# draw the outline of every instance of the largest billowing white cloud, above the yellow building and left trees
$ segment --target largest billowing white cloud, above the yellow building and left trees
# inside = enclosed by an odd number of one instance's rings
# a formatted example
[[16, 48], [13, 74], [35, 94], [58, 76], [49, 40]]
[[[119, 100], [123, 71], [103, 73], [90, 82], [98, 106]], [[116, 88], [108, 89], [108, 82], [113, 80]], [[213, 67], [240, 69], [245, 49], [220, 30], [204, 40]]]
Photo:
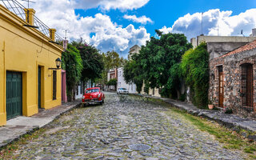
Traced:
[[[96, 0], [95, 2], [103, 1]], [[42, 0], [38, 1], [33, 7], [36, 10], [36, 16], [47, 26], [56, 28], [58, 34], [62, 37], [64, 37], [65, 30], [67, 30], [68, 38], [83, 38], [90, 45], [103, 52], [115, 50], [126, 57], [131, 46], [135, 44], [144, 45], [146, 40], [150, 38], [150, 34], [147, 33], [144, 27], [135, 29], [131, 24], [125, 27], [120, 26], [112, 22], [110, 16], [106, 14], [81, 17], [74, 13], [74, 6], [72, 0]]]

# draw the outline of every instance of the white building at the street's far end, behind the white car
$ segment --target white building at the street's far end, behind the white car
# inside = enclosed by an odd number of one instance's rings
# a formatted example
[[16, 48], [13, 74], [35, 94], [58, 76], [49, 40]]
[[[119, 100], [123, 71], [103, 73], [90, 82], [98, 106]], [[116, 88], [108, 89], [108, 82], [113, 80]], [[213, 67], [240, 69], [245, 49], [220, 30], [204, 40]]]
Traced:
[[118, 68], [118, 88], [126, 88], [129, 93], [137, 94], [136, 85], [134, 83], [127, 84], [123, 77], [123, 68]]

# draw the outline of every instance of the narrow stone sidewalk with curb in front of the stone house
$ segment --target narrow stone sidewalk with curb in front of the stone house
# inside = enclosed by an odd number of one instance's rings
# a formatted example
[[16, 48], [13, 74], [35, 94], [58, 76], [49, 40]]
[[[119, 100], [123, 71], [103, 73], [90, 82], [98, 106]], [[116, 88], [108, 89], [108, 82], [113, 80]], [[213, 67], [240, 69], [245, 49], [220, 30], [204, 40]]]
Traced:
[[242, 132], [242, 136], [248, 138], [250, 140], [256, 141], [256, 121], [251, 118], [241, 118], [235, 114], [224, 114], [219, 110], [202, 110], [198, 109], [192, 103], [188, 102], [180, 102], [170, 98], [158, 98], [149, 95], [136, 94], [146, 98], [155, 98], [162, 99], [162, 101], [169, 103], [172, 106], [177, 107], [180, 110], [186, 110], [187, 113], [193, 114], [196, 116], [202, 116], [204, 118], [208, 118], [231, 130], [242, 131], [248, 130], [252, 134], [246, 134], [246, 132]]

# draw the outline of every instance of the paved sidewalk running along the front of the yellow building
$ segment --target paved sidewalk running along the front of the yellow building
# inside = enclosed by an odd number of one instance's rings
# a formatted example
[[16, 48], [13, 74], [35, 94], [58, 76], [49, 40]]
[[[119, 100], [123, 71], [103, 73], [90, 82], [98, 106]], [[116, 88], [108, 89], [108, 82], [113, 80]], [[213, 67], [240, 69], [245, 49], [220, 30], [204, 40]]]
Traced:
[[29, 134], [46, 126], [60, 115], [80, 105], [81, 99], [75, 102], [67, 102], [62, 106], [50, 110], [43, 110], [32, 117], [20, 116], [7, 121], [6, 126], [0, 127], [0, 150], [3, 146], [17, 140], [24, 134]]

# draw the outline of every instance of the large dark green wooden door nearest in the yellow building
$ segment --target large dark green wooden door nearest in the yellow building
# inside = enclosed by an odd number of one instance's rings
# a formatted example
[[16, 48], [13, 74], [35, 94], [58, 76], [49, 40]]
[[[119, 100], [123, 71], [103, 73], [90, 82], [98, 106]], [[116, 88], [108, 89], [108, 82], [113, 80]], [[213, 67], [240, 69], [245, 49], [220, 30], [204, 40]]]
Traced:
[[22, 115], [22, 73], [6, 74], [6, 114], [7, 119]]

